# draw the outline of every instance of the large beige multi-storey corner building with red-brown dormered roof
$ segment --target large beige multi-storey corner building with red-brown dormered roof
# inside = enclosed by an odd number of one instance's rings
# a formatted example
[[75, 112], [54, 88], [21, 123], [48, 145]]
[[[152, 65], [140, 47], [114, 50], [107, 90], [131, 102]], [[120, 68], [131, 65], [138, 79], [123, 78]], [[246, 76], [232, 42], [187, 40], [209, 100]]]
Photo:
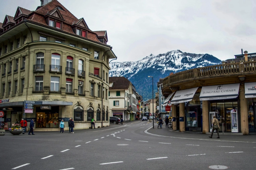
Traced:
[[[35, 11], [17, 8], [0, 23], [0, 110], [8, 126], [24, 117], [36, 130], [109, 126], [109, 61], [116, 59], [106, 31], [92, 31], [57, 0]], [[35, 101], [26, 109], [24, 101]], [[43, 120], [37, 128], [38, 120]], [[57, 129], [55, 129], [57, 130]]]

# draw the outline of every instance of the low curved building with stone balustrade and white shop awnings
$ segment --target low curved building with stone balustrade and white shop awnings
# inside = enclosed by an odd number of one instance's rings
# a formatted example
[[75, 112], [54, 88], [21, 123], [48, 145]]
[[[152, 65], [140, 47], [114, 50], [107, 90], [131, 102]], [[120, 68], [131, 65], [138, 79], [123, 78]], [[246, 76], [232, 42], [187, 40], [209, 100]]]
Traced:
[[256, 134], [256, 61], [247, 51], [220, 65], [194, 68], [163, 80], [172, 104], [173, 129], [210, 133], [213, 116], [220, 133]]

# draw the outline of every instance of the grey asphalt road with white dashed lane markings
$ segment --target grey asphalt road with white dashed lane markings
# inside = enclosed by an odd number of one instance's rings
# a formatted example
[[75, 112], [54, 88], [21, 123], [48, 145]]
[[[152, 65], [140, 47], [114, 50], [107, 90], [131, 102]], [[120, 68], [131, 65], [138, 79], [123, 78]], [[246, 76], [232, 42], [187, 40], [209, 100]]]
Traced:
[[[212, 165], [247, 170], [256, 167], [255, 143], [146, 134], [151, 127], [148, 121], [136, 121], [111, 124], [108, 130], [100, 128], [91, 133], [74, 130], [74, 134], [0, 136], [0, 170], [205, 170]], [[157, 130], [161, 132], [164, 128]]]

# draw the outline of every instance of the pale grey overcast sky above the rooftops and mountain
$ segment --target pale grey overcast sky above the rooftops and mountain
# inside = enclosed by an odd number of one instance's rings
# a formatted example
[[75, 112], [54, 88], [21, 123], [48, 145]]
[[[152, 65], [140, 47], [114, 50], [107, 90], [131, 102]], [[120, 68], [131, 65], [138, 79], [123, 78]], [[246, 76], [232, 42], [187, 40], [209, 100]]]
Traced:
[[[0, 22], [17, 7], [35, 10], [40, 0], [1, 0]], [[172, 50], [226, 60], [256, 52], [254, 0], [59, 0], [92, 31], [107, 30], [117, 62], [138, 61]]]

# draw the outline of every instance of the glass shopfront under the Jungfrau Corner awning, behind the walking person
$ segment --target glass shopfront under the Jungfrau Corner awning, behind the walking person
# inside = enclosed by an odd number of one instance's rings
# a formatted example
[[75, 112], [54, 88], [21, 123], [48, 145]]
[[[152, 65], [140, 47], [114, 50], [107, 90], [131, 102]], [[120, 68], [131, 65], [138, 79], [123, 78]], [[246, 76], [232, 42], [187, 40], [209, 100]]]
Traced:
[[[220, 129], [222, 132], [232, 132], [232, 127], [238, 129], [239, 118], [231, 113], [238, 113], [238, 102], [237, 101], [222, 101], [222, 102], [210, 102], [210, 112], [215, 113], [216, 118], [219, 120]], [[233, 117], [232, 117], [233, 116]], [[212, 122], [211, 117], [209, 118]], [[233, 123], [233, 124], [232, 124]], [[211, 123], [210, 123], [211, 128]]]

